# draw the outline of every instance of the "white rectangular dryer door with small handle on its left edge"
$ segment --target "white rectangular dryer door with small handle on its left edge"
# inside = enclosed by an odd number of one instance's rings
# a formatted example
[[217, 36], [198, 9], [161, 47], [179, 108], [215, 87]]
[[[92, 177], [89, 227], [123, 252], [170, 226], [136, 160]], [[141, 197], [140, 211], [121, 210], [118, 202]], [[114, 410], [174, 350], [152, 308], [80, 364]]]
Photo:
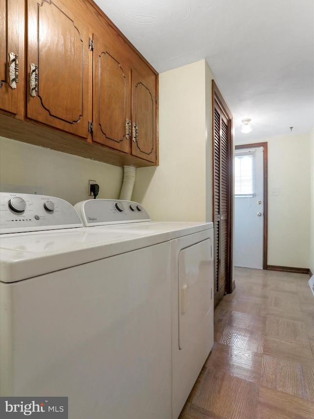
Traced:
[[179, 253], [179, 348], [193, 338], [211, 306], [210, 239]]

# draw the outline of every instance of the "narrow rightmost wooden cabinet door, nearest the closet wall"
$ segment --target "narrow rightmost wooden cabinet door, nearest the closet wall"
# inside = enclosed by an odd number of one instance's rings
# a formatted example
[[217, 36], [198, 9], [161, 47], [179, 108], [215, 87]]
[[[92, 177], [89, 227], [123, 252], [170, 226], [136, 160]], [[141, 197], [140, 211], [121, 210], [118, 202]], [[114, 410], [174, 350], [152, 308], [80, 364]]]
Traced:
[[132, 155], [156, 162], [156, 75], [132, 70]]

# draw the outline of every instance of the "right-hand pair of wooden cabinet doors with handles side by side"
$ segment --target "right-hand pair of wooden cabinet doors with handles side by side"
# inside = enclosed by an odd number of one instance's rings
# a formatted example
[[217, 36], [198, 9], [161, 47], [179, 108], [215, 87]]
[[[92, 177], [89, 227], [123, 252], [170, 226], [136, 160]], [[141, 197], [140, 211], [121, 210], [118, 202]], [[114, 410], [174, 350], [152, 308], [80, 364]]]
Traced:
[[157, 76], [140, 59], [130, 68], [130, 56], [94, 35], [93, 141], [156, 163]]

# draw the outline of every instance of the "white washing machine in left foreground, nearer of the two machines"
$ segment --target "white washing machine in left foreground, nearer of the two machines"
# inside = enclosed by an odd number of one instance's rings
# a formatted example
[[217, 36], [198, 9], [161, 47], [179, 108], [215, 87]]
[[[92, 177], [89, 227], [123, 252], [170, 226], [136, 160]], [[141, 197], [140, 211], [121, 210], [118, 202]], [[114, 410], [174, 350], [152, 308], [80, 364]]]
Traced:
[[169, 233], [85, 228], [66, 201], [6, 193], [0, 222], [1, 395], [169, 419]]

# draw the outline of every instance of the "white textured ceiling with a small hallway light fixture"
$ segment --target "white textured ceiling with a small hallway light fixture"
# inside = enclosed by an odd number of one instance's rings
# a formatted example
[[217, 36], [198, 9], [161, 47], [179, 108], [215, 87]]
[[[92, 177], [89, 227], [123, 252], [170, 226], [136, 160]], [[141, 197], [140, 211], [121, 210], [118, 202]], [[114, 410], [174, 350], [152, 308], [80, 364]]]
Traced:
[[[233, 113], [236, 141], [311, 131], [313, 0], [96, 3], [158, 73], [205, 58]], [[243, 118], [252, 119], [249, 134], [240, 133]]]

